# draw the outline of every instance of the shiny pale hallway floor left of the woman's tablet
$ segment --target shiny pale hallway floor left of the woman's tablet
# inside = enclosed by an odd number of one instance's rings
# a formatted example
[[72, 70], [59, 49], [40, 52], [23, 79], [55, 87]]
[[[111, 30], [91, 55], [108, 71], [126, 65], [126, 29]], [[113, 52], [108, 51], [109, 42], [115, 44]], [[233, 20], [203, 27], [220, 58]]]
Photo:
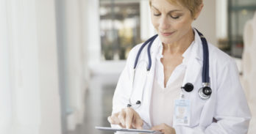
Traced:
[[96, 130], [95, 126], [110, 127], [107, 116], [111, 115], [112, 99], [115, 92], [117, 76], [95, 76], [90, 81], [90, 88], [85, 97], [85, 119], [76, 130], [68, 134], [113, 134]]

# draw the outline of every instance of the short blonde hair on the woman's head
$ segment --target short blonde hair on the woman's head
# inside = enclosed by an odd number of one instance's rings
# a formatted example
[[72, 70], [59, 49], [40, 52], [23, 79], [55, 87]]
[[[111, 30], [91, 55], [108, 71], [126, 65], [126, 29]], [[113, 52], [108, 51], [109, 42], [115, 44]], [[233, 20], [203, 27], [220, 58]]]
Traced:
[[[151, 1], [149, 0], [149, 5], [151, 7]], [[202, 4], [202, 0], [166, 0], [170, 2], [171, 4], [181, 4], [183, 7], [188, 8], [188, 10], [191, 11], [191, 15], [194, 18], [196, 15], [196, 12], [199, 11], [199, 7]]]

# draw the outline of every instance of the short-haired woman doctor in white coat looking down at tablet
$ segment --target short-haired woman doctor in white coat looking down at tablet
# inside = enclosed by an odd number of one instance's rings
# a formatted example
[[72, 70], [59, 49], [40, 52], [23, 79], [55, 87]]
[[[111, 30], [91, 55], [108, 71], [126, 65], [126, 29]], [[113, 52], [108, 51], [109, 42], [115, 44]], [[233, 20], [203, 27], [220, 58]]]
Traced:
[[149, 4], [158, 36], [139, 56], [142, 44], [130, 51], [108, 117], [112, 127], [164, 134], [246, 134], [251, 115], [235, 62], [214, 45], [205, 45], [203, 35], [191, 27], [202, 0]]

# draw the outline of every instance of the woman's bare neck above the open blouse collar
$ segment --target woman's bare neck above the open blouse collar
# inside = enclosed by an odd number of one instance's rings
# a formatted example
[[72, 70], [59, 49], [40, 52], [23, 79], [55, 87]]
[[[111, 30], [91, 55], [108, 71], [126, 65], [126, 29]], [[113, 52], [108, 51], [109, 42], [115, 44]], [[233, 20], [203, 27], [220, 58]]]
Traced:
[[188, 47], [191, 45], [191, 42], [194, 40], [194, 33], [193, 29], [188, 31], [187, 34], [182, 37], [181, 40], [178, 40], [177, 42], [174, 42], [172, 44], [164, 44], [163, 43], [163, 53], [169, 53], [169, 54], [183, 54]]

